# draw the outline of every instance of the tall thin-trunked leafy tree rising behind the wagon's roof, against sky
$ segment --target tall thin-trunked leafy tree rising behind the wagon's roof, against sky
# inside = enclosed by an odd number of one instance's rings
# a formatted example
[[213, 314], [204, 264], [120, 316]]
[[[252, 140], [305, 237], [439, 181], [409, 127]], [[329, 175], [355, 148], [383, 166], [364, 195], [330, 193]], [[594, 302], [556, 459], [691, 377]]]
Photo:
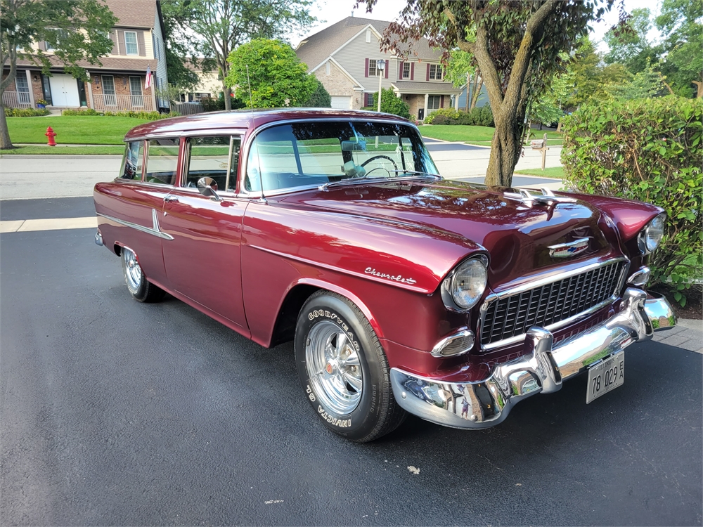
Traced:
[[[231, 89], [226, 84], [228, 57], [251, 39], [273, 39], [309, 27], [316, 18], [309, 13], [313, 0], [172, 0], [174, 9], [188, 10], [180, 23], [179, 38], [189, 39], [199, 55], [209, 60], [204, 70], [217, 67], [222, 78], [226, 110], [231, 109]], [[251, 69], [251, 68], [250, 68]]]

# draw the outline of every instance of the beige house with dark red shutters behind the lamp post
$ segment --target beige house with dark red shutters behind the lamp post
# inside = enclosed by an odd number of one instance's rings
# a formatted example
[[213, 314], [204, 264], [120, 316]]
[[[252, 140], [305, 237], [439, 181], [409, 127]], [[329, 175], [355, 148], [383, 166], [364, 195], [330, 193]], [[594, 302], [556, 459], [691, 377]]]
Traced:
[[385, 60], [381, 81], [424, 119], [439, 108], [450, 108], [460, 90], [444, 81], [441, 53], [427, 39], [415, 41], [408, 58], [380, 51], [382, 33], [390, 22], [350, 16], [307, 37], [295, 53], [332, 96], [333, 108], [362, 108], [378, 91], [377, 60]]

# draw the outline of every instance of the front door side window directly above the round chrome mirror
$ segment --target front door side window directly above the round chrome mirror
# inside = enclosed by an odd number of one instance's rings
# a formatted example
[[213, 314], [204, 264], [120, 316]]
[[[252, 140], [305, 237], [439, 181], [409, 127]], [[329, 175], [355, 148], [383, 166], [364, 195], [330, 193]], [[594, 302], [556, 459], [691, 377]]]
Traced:
[[200, 178], [213, 178], [217, 182], [218, 190], [236, 191], [241, 141], [239, 136], [191, 138], [191, 155], [185, 186], [195, 188]]

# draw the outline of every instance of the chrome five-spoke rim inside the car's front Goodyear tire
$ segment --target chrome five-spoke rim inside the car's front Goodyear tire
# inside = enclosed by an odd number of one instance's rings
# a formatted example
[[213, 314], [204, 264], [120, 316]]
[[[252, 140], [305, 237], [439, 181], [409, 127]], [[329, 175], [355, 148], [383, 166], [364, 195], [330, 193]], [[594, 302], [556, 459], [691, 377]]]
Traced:
[[338, 415], [352, 413], [361, 400], [361, 363], [359, 353], [338, 325], [323, 320], [312, 327], [305, 364], [320, 402]]

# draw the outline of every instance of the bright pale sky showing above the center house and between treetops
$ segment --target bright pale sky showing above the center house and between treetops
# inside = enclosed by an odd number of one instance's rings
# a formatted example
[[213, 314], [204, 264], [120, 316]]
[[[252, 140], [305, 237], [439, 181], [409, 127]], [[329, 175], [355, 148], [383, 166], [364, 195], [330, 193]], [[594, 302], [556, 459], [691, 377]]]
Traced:
[[[619, 2], [618, 2], [619, 3]], [[354, 13], [354, 16], [360, 18], [373, 18], [374, 20], [395, 20], [399, 15], [401, 9], [406, 5], [406, 0], [378, 0], [378, 4], [374, 6], [372, 13], [366, 13], [363, 6], [359, 9], [354, 10], [354, 4], [356, 0], [318, 0], [316, 6], [311, 9], [311, 14], [316, 16], [318, 20], [325, 20], [325, 22], [318, 22], [314, 27], [304, 32], [299, 32], [297, 34], [288, 35], [290, 44], [295, 48], [299, 41], [307, 37], [308, 35], [314, 34], [325, 27], [333, 25], [335, 22], [347, 18]], [[649, 8], [652, 13], [659, 13], [659, 6], [661, 4], [660, 0], [625, 0], [625, 8], [627, 11], [632, 11], [633, 8]], [[602, 22], [592, 22], [591, 27], [593, 32], [591, 33], [591, 39], [596, 42], [600, 42], [598, 50], [602, 52], [607, 51], [607, 46], [602, 42], [603, 35], [607, 30], [617, 22], [618, 11], [617, 8], [613, 8], [610, 13], [605, 13]], [[656, 30], [650, 33], [650, 39], [656, 39], [658, 34]]]

